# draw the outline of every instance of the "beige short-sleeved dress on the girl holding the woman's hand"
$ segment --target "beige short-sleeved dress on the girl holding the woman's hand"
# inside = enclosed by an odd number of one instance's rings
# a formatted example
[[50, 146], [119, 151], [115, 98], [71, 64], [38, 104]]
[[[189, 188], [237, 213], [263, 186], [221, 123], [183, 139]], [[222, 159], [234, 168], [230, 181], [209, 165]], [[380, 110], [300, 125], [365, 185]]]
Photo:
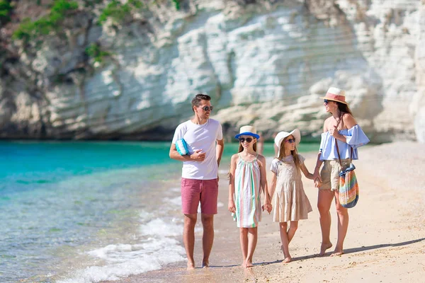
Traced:
[[[298, 154], [300, 162], [305, 158]], [[283, 161], [274, 158], [271, 171], [277, 174], [276, 189], [273, 194], [273, 221], [287, 222], [307, 219], [312, 212], [310, 201], [302, 186], [301, 171], [297, 170], [293, 156], [286, 156]]]

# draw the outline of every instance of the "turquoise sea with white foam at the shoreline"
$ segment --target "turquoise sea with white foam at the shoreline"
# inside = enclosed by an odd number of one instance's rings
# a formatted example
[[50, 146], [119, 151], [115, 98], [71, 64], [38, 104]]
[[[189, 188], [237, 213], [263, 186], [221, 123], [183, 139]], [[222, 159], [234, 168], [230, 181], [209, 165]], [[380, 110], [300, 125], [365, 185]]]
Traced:
[[[169, 145], [1, 141], [0, 282], [101, 282], [185, 260]], [[221, 172], [236, 151], [225, 145]]]

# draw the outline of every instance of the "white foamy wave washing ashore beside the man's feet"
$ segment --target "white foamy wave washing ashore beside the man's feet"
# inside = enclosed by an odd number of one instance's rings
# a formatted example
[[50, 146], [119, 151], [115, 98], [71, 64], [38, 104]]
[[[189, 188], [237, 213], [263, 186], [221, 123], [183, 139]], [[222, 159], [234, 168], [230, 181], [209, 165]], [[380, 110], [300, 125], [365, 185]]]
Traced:
[[58, 283], [86, 283], [117, 280], [151, 270], [159, 270], [171, 262], [185, 260], [185, 250], [174, 236], [182, 233], [181, 223], [154, 219], [141, 227], [146, 236], [142, 243], [108, 245], [88, 252], [106, 262], [103, 266], [77, 270], [72, 277]]

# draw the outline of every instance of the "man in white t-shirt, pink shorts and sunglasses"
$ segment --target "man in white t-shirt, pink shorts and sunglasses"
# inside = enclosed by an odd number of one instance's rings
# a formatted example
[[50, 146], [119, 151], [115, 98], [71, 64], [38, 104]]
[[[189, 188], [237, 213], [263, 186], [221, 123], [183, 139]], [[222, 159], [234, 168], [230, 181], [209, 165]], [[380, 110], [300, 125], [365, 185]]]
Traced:
[[[170, 158], [183, 161], [181, 170], [181, 207], [184, 214], [183, 243], [188, 258], [188, 270], [195, 268], [195, 224], [200, 203], [203, 224], [203, 261], [208, 267], [214, 241], [214, 214], [217, 214], [218, 166], [225, 148], [222, 127], [210, 119], [210, 96], [198, 94], [192, 100], [195, 117], [176, 128], [170, 148]], [[180, 155], [176, 142], [184, 139], [188, 154]]]

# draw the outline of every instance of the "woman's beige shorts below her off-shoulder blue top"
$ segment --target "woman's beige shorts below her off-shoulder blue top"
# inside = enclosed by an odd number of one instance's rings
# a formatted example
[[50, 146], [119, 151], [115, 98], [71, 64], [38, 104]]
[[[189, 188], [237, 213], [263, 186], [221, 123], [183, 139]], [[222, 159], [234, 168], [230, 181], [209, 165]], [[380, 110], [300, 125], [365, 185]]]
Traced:
[[[341, 159], [342, 168], [346, 169], [350, 166], [350, 158]], [[341, 165], [339, 160], [325, 160], [323, 162], [322, 171], [320, 171], [320, 178], [322, 178], [322, 186], [319, 190], [339, 190], [339, 172], [341, 172]]]

